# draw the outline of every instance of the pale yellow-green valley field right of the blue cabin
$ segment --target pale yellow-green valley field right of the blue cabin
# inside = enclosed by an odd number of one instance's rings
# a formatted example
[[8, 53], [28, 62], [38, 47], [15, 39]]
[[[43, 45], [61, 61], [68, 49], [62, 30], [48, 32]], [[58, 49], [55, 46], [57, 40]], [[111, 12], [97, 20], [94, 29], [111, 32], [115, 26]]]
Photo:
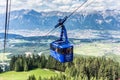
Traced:
[[81, 43], [75, 46], [74, 53], [89, 56], [104, 56], [105, 54], [120, 54], [120, 43]]

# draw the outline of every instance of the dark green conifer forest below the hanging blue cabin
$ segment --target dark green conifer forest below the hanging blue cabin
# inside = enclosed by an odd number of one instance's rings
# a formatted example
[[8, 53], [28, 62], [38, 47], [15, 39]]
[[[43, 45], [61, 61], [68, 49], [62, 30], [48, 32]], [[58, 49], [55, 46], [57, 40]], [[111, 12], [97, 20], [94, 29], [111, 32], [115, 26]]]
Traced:
[[[120, 64], [104, 57], [75, 57], [73, 62], [60, 63], [51, 56], [13, 56], [10, 70], [29, 71], [36, 68], [57, 70], [57, 76], [38, 80], [117, 80], [120, 78]], [[28, 80], [37, 80], [30, 75]]]

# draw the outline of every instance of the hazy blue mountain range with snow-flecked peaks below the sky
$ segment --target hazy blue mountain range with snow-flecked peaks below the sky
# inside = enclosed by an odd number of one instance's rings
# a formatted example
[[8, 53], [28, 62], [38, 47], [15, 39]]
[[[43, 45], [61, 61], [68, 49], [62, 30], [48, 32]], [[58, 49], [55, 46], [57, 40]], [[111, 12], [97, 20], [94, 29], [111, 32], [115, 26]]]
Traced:
[[[59, 18], [69, 15], [68, 12], [37, 12], [35, 10], [18, 10], [11, 12], [10, 29], [51, 29], [56, 25]], [[4, 27], [4, 15], [0, 14], [0, 29]], [[77, 12], [65, 23], [70, 30], [93, 29], [93, 30], [120, 30], [120, 11], [106, 10], [92, 13]]]

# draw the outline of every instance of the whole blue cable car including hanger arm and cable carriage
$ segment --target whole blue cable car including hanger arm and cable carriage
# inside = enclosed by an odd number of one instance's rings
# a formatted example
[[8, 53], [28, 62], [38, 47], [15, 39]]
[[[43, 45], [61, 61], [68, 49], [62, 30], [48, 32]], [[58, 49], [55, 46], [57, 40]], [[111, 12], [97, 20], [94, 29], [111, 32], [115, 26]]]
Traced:
[[67, 17], [59, 19], [59, 23], [55, 26], [55, 28], [61, 27], [60, 39], [50, 43], [50, 55], [61, 63], [73, 61], [73, 45], [68, 41], [67, 31], [63, 25], [66, 19]]

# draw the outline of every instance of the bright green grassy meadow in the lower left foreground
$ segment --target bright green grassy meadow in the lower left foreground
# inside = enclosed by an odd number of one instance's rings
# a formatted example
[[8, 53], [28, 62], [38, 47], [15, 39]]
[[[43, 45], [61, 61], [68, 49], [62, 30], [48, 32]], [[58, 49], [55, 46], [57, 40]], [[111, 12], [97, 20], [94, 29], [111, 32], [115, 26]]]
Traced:
[[36, 69], [28, 72], [9, 71], [0, 74], [0, 80], [27, 80], [28, 76], [33, 74], [35, 75], [36, 78], [38, 78], [39, 76], [43, 78], [55, 76], [57, 72], [50, 71], [48, 69]]

